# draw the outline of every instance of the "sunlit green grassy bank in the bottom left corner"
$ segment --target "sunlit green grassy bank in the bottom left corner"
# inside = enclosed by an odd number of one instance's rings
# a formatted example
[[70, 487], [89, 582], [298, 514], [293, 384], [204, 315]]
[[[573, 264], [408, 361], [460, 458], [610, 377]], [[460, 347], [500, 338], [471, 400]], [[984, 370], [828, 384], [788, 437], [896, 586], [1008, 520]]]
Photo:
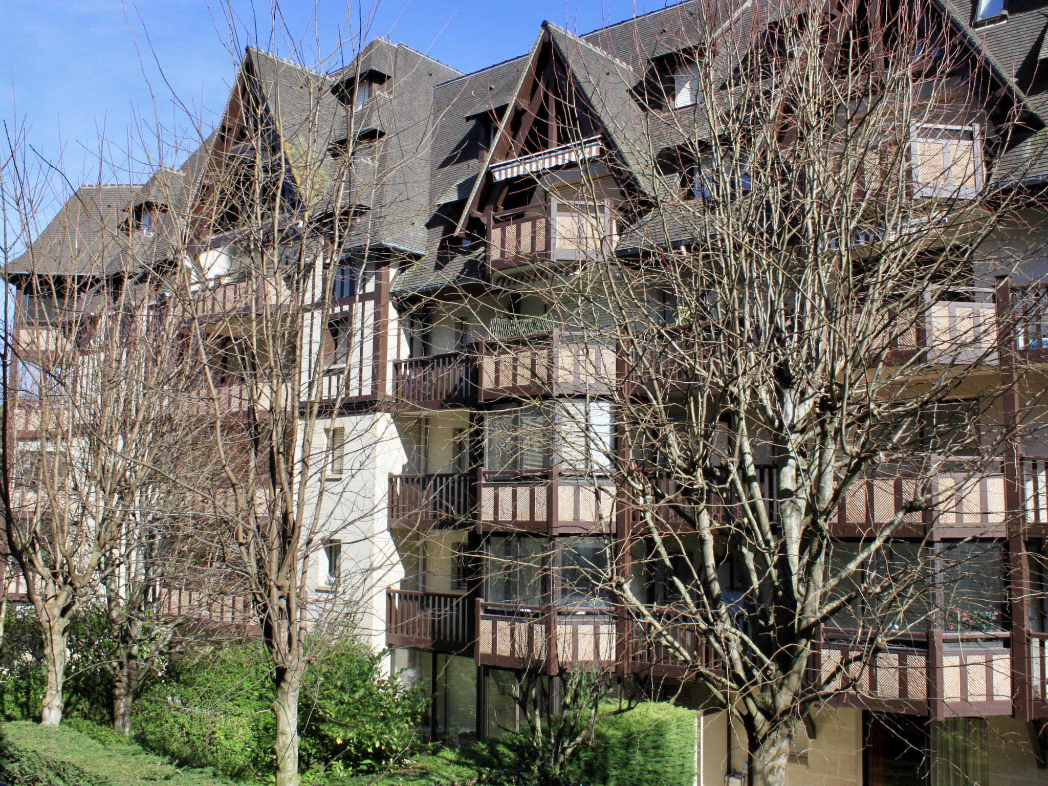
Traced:
[[218, 786], [202, 770], [178, 770], [137, 745], [107, 746], [79, 732], [36, 723], [0, 726], [0, 781], [8, 786]]

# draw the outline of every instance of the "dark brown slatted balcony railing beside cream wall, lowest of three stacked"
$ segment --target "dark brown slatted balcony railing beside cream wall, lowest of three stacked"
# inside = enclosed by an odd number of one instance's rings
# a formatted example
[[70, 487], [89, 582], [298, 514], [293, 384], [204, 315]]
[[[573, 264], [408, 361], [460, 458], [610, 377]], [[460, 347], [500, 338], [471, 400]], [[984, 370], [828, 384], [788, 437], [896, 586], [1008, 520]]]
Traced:
[[463, 652], [473, 643], [472, 602], [443, 592], [386, 590], [386, 641], [390, 647]]

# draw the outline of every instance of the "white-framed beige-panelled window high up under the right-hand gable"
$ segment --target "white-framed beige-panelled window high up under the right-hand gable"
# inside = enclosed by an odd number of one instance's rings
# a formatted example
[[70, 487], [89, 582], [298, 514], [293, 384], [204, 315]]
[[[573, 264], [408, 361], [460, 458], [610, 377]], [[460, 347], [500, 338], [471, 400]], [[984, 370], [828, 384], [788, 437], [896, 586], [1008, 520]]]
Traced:
[[916, 126], [912, 136], [914, 196], [976, 196], [982, 188], [978, 126]]

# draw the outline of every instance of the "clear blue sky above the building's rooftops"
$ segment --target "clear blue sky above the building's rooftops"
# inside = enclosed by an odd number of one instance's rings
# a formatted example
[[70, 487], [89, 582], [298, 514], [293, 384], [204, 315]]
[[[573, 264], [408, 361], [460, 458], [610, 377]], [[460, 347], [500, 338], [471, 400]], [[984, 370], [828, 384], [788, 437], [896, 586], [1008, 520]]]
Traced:
[[[633, 0], [390, 0], [372, 8], [329, 0], [280, 3], [271, 36], [268, 0], [0, 0], [0, 118], [18, 124], [41, 158], [71, 181], [100, 179], [100, 135], [107, 139], [102, 180], [140, 180], [158, 160], [179, 163], [194, 144], [194, 121], [210, 128], [221, 112], [246, 43], [287, 54], [292, 41], [325, 70], [356, 49], [332, 51], [342, 36], [387, 36], [462, 71], [521, 54], [548, 19], [586, 32], [661, 7]], [[226, 9], [236, 21], [231, 32]], [[347, 19], [348, 15], [348, 19]], [[318, 20], [318, 24], [313, 21]], [[322, 57], [318, 57], [318, 50]], [[178, 103], [172, 102], [172, 94]], [[155, 129], [183, 139], [157, 151]], [[2, 129], [0, 129], [2, 131]], [[152, 140], [152, 141], [151, 141]]]

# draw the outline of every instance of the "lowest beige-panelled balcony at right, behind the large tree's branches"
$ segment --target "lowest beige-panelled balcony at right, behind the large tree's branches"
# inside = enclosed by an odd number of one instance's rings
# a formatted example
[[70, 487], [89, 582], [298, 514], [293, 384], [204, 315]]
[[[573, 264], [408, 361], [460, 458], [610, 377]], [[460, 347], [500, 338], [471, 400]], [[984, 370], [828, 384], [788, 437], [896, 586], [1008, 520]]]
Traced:
[[831, 690], [854, 681], [831, 704], [935, 718], [1012, 712], [1008, 633], [911, 634], [872, 654], [854, 641], [853, 631], [823, 634], [815, 653], [822, 681]]

